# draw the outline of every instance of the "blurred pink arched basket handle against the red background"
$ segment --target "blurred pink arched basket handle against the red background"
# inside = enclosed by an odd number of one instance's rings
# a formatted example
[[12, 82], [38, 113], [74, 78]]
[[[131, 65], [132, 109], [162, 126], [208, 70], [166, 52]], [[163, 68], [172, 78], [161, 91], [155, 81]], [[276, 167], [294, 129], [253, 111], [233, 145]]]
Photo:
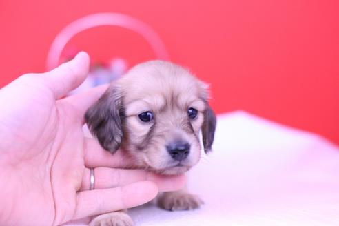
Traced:
[[59, 60], [65, 45], [79, 32], [103, 25], [112, 25], [132, 30], [141, 36], [150, 44], [154, 54], [158, 59], [168, 60], [169, 55], [163, 41], [156, 32], [147, 24], [119, 13], [98, 13], [91, 14], [80, 19], [76, 19], [67, 25], [59, 34], [56, 35], [47, 56], [46, 69], [52, 70], [59, 65]]

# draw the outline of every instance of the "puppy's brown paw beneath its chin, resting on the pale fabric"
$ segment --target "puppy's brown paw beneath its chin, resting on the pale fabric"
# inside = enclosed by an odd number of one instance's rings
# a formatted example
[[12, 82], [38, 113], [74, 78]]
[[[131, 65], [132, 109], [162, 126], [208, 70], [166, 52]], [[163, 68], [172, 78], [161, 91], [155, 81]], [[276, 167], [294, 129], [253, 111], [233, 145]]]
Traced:
[[165, 192], [158, 198], [158, 206], [171, 211], [197, 209], [203, 201], [187, 192]]

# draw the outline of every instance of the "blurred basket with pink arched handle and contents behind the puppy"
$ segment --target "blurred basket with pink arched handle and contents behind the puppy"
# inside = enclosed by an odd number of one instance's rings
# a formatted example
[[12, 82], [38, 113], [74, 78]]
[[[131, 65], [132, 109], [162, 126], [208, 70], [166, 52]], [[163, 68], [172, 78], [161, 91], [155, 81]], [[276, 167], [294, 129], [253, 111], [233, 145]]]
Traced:
[[[48, 52], [46, 70], [56, 68], [60, 61], [69, 61], [77, 54], [77, 52], [79, 52], [76, 51], [76, 46], [68, 46], [68, 48], [65, 48], [72, 38], [91, 28], [103, 26], [105, 26], [105, 28], [116, 26], [135, 32], [147, 41], [157, 59], [165, 61], [169, 60], [163, 41], [161, 41], [158, 34], [156, 34], [156, 32], [147, 24], [124, 14], [98, 13], [76, 19], [56, 35]], [[88, 45], [91, 45], [91, 43], [88, 43]], [[88, 78], [79, 86], [79, 88], [73, 90], [72, 94], [97, 85], [110, 83], [119, 79], [126, 71], [127, 60], [125, 59], [114, 58], [110, 59], [108, 63], [92, 62]]]

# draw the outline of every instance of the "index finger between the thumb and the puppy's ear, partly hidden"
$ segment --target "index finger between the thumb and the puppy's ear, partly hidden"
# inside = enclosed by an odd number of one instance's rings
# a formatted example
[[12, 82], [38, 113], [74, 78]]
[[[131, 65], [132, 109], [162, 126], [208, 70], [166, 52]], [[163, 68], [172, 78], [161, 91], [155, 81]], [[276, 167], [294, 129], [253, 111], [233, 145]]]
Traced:
[[100, 96], [107, 90], [107, 85], [99, 85], [96, 88], [92, 88], [90, 90], [86, 90], [84, 92], [81, 92], [79, 94], [74, 94], [72, 96], [66, 97], [63, 101], [67, 101], [72, 106], [74, 106], [74, 109], [76, 109], [76, 117], [79, 119], [82, 119], [82, 123], [84, 123], [84, 115], [85, 112], [88, 110], [88, 108], [93, 105]]

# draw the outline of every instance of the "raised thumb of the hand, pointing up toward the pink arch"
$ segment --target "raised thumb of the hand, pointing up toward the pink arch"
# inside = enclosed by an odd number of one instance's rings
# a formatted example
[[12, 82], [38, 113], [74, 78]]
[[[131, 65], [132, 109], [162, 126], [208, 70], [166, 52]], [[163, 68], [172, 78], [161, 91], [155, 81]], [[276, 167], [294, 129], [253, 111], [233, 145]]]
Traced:
[[55, 99], [60, 99], [81, 85], [88, 75], [89, 67], [90, 57], [86, 52], [79, 52], [71, 61], [43, 73]]

